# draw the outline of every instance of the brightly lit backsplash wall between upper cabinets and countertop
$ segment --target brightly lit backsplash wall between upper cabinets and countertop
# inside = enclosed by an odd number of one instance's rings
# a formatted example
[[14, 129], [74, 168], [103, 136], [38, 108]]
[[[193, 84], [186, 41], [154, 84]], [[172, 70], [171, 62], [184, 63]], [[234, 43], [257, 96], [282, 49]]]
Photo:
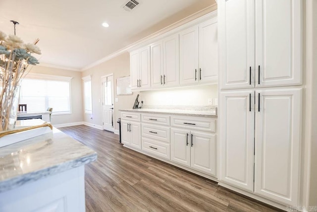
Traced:
[[[184, 88], [141, 91], [139, 101], [145, 105], [208, 105], [208, 99], [217, 98], [217, 85], [193, 86]], [[213, 101], [214, 102], [214, 101]]]

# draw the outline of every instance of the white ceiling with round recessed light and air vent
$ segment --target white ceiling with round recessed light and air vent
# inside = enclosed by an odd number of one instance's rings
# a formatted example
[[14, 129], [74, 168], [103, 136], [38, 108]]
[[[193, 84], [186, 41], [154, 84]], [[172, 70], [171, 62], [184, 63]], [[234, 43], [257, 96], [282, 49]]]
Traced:
[[[80, 71], [159, 29], [215, 3], [214, 0], [0, 0], [0, 31], [42, 50], [40, 65]], [[109, 24], [108, 28], [102, 26]]]

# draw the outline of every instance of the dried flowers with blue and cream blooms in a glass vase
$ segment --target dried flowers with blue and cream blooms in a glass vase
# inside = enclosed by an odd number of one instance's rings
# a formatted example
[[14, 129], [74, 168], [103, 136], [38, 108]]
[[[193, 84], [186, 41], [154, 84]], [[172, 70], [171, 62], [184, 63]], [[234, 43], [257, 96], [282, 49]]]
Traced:
[[6, 36], [0, 31], [0, 132], [12, 130], [14, 126], [20, 81], [29, 71], [29, 65], [39, 64], [31, 55], [41, 54], [36, 46], [38, 41], [24, 44], [19, 37]]

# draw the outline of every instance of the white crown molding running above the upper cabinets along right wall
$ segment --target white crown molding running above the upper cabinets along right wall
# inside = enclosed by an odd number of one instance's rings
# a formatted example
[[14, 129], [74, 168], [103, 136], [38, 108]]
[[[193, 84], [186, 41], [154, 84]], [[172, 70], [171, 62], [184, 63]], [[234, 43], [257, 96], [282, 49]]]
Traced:
[[[130, 51], [133, 51], [134, 49], [136, 48], [139, 48], [140, 46], [142, 45], [147, 45], [151, 42], [153, 42], [153, 40], [155, 39], [159, 39], [160, 37], [164, 37], [164, 36], [168, 36], [170, 34], [173, 34], [173, 33], [176, 33], [178, 31], [181, 31], [185, 28], [188, 28], [190, 27], [191, 25], [195, 25], [195, 24], [198, 24], [202, 21], [205, 21], [206, 19], [209, 19], [209, 18], [212, 18], [212, 17], [216, 17], [217, 16], [217, 9], [216, 9], [216, 6], [217, 4], [212, 4], [198, 12], [195, 12], [167, 27], [164, 27], [163, 29], [160, 29], [159, 31], [145, 37], [145, 38], [142, 38], [141, 40], [139, 41], [136, 41], [88, 66], [85, 66], [84, 68], [82, 68], [80, 71], [86, 71], [88, 69], [91, 69], [95, 66], [98, 66], [112, 58], [115, 58], [125, 52], [130, 52]], [[209, 11], [210, 10], [210, 11]], [[208, 13], [206, 14], [206, 11], [208, 11]], [[202, 15], [204, 14], [204, 15]]]

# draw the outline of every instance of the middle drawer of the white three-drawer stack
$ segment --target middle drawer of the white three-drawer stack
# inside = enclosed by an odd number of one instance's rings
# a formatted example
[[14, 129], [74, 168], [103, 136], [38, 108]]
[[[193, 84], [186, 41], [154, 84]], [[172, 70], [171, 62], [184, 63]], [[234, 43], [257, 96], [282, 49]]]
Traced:
[[142, 123], [142, 137], [149, 137], [155, 140], [169, 143], [169, 127], [149, 125]]

